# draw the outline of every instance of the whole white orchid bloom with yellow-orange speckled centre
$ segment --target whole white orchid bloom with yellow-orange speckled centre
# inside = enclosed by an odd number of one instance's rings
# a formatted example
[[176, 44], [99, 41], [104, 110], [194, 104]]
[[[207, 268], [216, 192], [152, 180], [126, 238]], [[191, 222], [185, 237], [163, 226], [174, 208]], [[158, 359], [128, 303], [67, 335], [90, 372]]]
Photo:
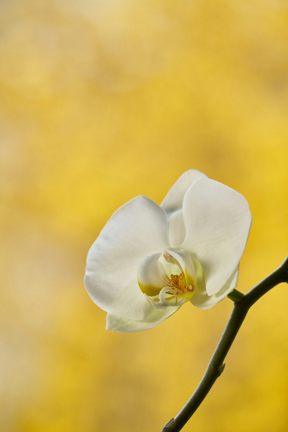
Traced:
[[208, 309], [237, 285], [251, 226], [243, 195], [190, 170], [161, 206], [139, 196], [120, 207], [89, 250], [85, 287], [107, 329], [146, 330], [188, 300]]

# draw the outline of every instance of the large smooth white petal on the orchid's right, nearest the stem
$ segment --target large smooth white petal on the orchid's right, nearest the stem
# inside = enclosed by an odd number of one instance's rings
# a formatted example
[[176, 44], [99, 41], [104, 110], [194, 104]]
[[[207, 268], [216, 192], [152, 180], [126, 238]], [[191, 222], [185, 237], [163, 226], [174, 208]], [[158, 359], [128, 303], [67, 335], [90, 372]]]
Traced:
[[202, 265], [208, 295], [216, 294], [244, 252], [252, 222], [247, 200], [218, 181], [200, 178], [184, 197], [183, 217], [181, 248]]

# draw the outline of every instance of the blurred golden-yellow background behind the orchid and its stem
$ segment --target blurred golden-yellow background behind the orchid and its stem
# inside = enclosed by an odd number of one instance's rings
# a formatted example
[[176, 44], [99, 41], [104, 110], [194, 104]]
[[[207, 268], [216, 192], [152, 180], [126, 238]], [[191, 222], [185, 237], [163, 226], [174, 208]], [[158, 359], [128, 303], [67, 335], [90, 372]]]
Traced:
[[[0, 429], [160, 432], [232, 302], [107, 332], [85, 257], [120, 205], [196, 168], [250, 203], [238, 289], [281, 264], [287, 2], [1, 0], [0, 26]], [[287, 307], [285, 284], [253, 307], [184, 431], [287, 431]]]

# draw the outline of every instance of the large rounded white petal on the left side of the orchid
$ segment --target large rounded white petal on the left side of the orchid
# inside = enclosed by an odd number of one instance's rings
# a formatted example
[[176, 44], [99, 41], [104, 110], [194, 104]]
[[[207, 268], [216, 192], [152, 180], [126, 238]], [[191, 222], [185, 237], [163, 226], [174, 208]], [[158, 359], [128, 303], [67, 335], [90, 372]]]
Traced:
[[154, 201], [136, 197], [108, 220], [87, 256], [84, 283], [104, 311], [141, 320], [153, 308], [137, 283], [147, 255], [169, 245], [167, 213]]

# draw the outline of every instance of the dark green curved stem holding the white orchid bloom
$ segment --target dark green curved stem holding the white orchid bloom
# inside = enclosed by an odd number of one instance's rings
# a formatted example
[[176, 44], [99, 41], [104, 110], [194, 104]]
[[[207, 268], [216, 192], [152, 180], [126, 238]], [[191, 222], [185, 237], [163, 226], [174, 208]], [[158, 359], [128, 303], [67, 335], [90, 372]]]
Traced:
[[242, 298], [241, 295], [239, 295], [241, 293], [235, 292], [233, 295], [233, 292], [231, 292], [231, 299], [234, 300], [234, 308], [206, 372], [193, 395], [175, 417], [175, 420], [171, 419], [162, 429], [162, 432], [179, 432], [193, 413], [195, 413], [209, 393], [216, 379], [222, 374], [225, 366], [225, 363], [223, 363], [225, 357], [250, 307], [266, 292], [281, 282], [288, 282], [288, 257], [277, 270], [258, 283], [258, 285], [254, 286], [254, 288], [250, 289]]

